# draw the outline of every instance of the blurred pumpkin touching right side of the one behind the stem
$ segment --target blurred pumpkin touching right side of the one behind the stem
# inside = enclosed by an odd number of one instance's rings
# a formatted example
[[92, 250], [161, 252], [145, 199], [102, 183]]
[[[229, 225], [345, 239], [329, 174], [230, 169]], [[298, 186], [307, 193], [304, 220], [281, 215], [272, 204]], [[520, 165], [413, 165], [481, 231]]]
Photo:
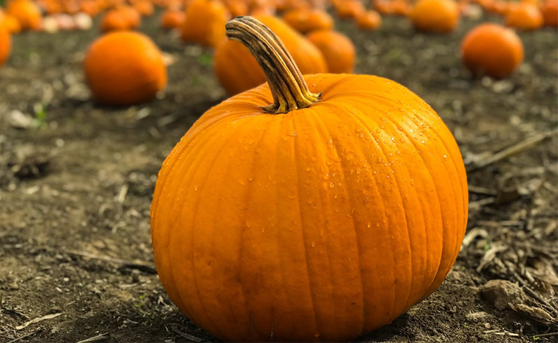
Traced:
[[333, 30], [320, 30], [311, 32], [306, 38], [324, 55], [328, 72], [352, 73], [356, 52], [349, 37]]

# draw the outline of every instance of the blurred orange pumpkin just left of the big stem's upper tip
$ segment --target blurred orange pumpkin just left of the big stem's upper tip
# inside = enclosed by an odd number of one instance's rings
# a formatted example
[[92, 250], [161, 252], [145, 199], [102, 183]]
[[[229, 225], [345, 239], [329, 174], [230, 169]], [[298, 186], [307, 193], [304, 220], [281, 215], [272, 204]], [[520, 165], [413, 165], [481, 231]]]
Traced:
[[194, 0], [186, 8], [181, 27], [182, 41], [215, 47], [225, 39], [225, 22], [229, 12], [216, 0]]

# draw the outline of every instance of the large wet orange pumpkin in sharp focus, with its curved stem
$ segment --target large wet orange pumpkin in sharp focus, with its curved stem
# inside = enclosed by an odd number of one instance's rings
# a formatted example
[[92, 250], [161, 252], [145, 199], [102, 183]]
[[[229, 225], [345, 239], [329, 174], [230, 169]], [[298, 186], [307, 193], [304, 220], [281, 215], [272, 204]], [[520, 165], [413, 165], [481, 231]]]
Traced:
[[171, 300], [225, 342], [343, 342], [390, 323], [449, 273], [467, 223], [456, 141], [378, 76], [302, 76], [269, 29], [227, 24], [268, 83], [209, 109], [154, 190]]

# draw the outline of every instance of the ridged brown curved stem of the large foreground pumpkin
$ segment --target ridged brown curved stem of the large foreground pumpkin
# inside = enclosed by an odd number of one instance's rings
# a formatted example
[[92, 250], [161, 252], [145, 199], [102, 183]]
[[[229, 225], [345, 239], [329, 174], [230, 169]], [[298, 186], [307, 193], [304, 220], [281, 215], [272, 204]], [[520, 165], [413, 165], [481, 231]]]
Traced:
[[227, 37], [248, 48], [265, 73], [273, 95], [273, 104], [263, 107], [272, 114], [310, 107], [321, 94], [310, 92], [308, 85], [283, 42], [262, 22], [251, 17], [237, 17], [225, 25]]

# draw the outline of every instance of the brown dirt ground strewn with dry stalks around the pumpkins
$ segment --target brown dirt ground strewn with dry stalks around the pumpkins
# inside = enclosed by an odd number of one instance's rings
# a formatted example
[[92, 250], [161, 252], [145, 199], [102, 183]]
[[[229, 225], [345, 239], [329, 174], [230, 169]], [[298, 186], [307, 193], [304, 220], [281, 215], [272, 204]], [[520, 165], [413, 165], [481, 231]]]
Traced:
[[[470, 184], [449, 277], [361, 342], [558, 342], [558, 32], [520, 34], [526, 59], [510, 79], [472, 79], [458, 46], [475, 23], [449, 35], [402, 18], [378, 32], [338, 23], [357, 73], [394, 79], [437, 110]], [[144, 105], [90, 99], [81, 60], [96, 29], [20, 34], [0, 69], [0, 342], [218, 341], [161, 287], [149, 213], [164, 157], [226, 95], [211, 51], [157, 18], [141, 30], [173, 60], [168, 87]]]

